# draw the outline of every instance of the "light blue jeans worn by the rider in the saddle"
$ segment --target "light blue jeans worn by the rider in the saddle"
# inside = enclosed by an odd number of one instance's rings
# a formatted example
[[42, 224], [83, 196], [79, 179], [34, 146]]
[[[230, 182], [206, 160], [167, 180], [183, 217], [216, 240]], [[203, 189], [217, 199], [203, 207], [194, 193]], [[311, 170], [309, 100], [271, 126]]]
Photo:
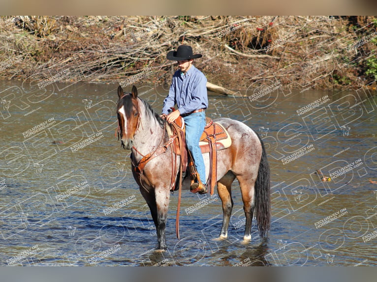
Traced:
[[204, 165], [203, 155], [199, 147], [200, 136], [206, 125], [205, 112], [191, 113], [183, 118], [186, 124], [186, 144], [194, 159], [196, 170], [199, 173], [200, 180], [206, 184], [206, 167]]

